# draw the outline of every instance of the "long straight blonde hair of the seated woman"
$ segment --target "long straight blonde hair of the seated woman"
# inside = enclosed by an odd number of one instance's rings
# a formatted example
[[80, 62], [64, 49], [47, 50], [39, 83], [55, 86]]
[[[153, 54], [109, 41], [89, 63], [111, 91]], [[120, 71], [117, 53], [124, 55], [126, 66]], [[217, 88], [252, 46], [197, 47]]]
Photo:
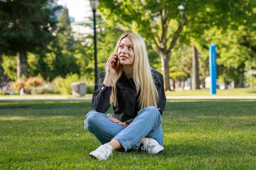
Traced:
[[[133, 44], [133, 52], [134, 52], [135, 58], [133, 63], [132, 76], [136, 86], [136, 95], [140, 93], [139, 95], [140, 110], [148, 106], [157, 107], [158, 93], [152, 77], [145, 42], [143, 38], [141, 38], [141, 36], [136, 33], [124, 33], [117, 40], [115, 51], [113, 53], [117, 52], [119, 48], [119, 44], [121, 40], [123, 40], [124, 38], [129, 38]], [[110, 95], [110, 104], [113, 106], [118, 105], [118, 101], [116, 97], [116, 94], [117, 94], [116, 82], [123, 73], [123, 66], [119, 63], [119, 61], [117, 61], [115, 69], [116, 69], [116, 74], [112, 78], [111, 86], [113, 87], [113, 89]]]

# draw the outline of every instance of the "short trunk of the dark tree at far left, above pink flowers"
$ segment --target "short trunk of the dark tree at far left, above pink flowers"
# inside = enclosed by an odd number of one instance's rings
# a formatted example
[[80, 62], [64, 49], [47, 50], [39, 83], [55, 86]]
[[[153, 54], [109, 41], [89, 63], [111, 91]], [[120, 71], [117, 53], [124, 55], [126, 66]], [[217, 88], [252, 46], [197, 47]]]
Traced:
[[17, 53], [17, 79], [20, 79], [24, 75], [27, 77], [27, 55], [26, 52]]

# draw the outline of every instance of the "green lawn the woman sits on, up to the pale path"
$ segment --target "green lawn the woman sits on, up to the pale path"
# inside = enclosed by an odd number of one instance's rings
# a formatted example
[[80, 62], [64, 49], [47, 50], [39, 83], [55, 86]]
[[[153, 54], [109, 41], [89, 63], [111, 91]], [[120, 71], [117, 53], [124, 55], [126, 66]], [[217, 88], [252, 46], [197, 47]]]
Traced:
[[254, 170], [256, 100], [168, 100], [164, 152], [113, 152], [83, 129], [91, 101], [0, 101], [1, 170]]

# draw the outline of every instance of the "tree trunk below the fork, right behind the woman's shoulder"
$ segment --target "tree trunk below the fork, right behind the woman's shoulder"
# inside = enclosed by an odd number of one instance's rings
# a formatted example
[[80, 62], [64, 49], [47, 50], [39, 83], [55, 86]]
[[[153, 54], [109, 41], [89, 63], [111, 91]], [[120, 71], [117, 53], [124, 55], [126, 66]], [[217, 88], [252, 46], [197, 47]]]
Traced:
[[164, 90], [170, 91], [170, 77], [169, 77], [169, 60], [170, 56], [161, 55], [162, 74], [164, 77]]

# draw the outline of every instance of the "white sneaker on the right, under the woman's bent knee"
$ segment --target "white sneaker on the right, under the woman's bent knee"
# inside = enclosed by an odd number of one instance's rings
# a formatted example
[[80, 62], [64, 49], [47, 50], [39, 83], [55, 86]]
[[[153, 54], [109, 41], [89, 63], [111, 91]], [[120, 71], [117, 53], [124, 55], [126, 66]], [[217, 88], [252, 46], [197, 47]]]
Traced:
[[146, 139], [141, 147], [142, 150], [146, 150], [149, 154], [161, 153], [164, 147], [158, 144], [155, 139]]

